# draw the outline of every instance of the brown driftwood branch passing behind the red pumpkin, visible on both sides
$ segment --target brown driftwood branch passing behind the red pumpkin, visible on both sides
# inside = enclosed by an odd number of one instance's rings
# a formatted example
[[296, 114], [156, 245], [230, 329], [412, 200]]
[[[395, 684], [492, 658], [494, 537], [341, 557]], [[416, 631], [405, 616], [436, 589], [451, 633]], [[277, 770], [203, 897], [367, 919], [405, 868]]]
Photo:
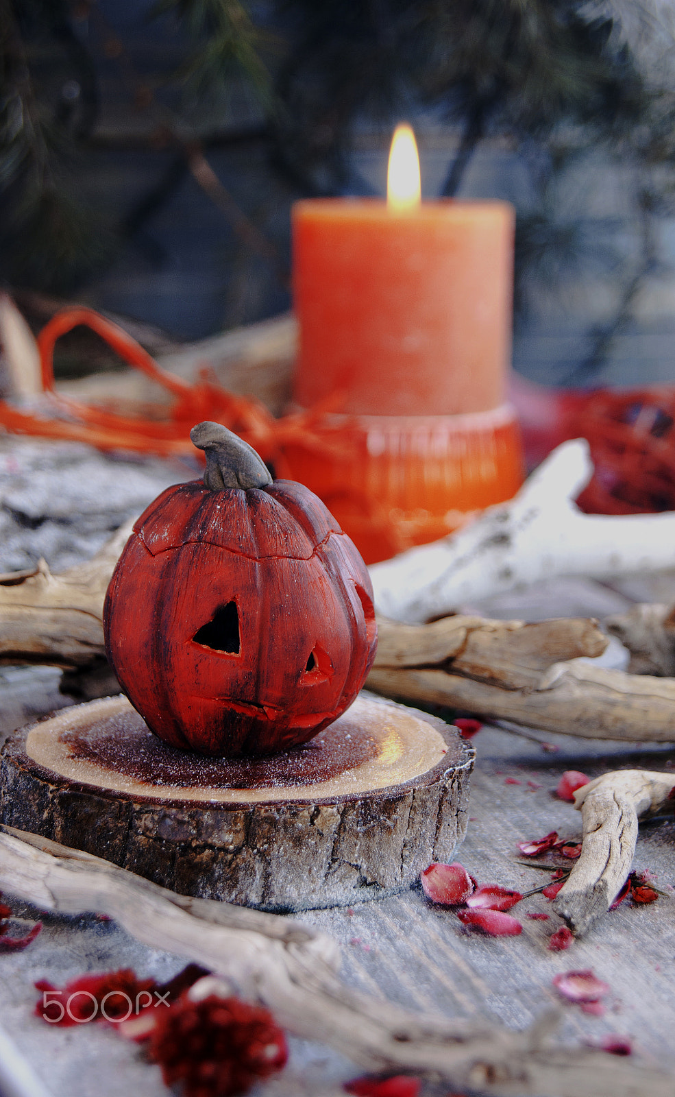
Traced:
[[[65, 668], [104, 655], [101, 623], [110, 577], [129, 521], [87, 564], [52, 575], [0, 576], [0, 661]], [[576, 661], [600, 655], [606, 637], [588, 619], [535, 624], [449, 617], [428, 625], [379, 620], [368, 689], [591, 738], [675, 742], [675, 678], [652, 678]]]

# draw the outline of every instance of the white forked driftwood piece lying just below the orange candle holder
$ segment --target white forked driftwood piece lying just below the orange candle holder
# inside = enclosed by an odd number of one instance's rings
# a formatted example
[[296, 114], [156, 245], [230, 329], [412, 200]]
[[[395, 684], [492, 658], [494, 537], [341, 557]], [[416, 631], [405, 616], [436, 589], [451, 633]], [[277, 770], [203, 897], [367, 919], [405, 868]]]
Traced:
[[604, 579], [675, 567], [675, 512], [584, 514], [588, 443], [559, 445], [510, 502], [458, 533], [369, 568], [377, 609], [409, 623], [557, 576]]

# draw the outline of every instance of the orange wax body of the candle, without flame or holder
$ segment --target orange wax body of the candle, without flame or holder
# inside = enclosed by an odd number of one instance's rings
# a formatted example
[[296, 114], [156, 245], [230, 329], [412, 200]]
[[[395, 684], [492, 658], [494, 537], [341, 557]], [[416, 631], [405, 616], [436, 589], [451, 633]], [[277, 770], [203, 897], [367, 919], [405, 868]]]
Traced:
[[308, 200], [293, 211], [294, 400], [356, 415], [503, 404], [514, 215], [505, 202]]

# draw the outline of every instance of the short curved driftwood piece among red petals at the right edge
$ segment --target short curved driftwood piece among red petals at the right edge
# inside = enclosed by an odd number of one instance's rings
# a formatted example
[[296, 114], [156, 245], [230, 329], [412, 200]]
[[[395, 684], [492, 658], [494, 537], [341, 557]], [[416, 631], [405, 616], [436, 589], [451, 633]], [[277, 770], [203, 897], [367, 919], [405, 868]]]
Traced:
[[583, 821], [582, 851], [553, 907], [577, 936], [609, 909], [630, 872], [638, 819], [672, 810], [674, 785], [672, 773], [623, 769], [604, 773], [574, 793]]

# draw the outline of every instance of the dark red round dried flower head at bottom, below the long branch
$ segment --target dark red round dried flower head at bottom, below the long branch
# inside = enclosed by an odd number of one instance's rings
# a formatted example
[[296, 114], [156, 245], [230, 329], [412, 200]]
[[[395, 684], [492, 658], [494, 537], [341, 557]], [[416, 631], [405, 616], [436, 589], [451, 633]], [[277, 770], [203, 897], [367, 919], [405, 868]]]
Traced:
[[286, 1040], [272, 1015], [238, 998], [183, 994], [157, 1016], [150, 1058], [167, 1085], [182, 1082], [185, 1097], [233, 1097], [286, 1063]]

